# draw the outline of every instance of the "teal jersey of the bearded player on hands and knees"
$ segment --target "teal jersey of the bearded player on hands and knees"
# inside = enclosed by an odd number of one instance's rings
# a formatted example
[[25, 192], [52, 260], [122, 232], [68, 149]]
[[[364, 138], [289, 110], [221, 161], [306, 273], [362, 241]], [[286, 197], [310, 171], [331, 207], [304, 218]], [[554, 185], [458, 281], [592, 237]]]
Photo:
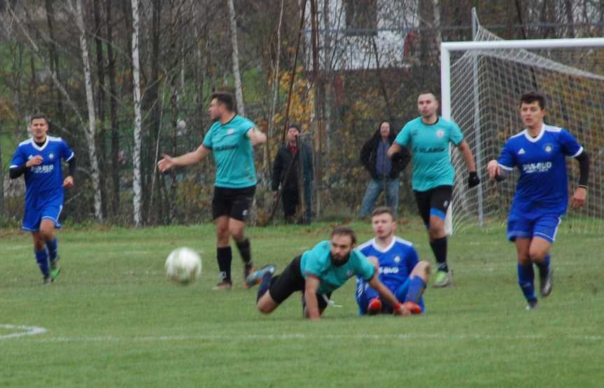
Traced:
[[344, 265], [336, 267], [330, 258], [330, 241], [322, 241], [315, 245], [310, 251], [302, 254], [300, 261], [300, 272], [304, 278], [314, 275], [321, 280], [318, 293], [328, 293], [339, 289], [346, 280], [353, 276], [360, 276], [369, 282], [374, 275], [375, 268], [360, 251], [353, 250], [349, 261]]

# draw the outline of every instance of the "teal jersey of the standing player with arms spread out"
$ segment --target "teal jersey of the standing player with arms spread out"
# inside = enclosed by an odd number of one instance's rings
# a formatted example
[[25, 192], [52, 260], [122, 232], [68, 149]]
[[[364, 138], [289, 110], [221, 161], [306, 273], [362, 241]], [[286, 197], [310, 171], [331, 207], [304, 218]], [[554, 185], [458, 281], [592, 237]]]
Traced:
[[225, 125], [216, 121], [206, 137], [204, 146], [210, 148], [216, 162], [216, 183], [225, 188], [244, 188], [257, 182], [252, 144], [248, 131], [255, 127], [247, 118], [234, 116]]

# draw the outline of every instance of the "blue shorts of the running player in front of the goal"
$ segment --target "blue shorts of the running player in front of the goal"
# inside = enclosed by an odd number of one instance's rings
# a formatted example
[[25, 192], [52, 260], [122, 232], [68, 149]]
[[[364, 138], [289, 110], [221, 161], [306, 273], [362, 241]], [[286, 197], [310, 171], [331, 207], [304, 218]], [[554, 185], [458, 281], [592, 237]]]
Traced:
[[542, 214], [535, 219], [528, 219], [510, 213], [507, 218], [507, 238], [514, 241], [517, 237], [540, 237], [553, 244], [560, 222], [559, 214]]

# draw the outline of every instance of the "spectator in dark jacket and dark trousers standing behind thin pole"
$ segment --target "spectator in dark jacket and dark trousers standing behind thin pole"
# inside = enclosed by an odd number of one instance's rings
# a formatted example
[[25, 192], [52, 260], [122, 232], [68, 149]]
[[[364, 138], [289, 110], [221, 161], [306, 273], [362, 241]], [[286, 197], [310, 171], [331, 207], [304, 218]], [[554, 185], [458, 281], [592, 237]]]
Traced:
[[[297, 206], [300, 204], [300, 188], [298, 176], [302, 171], [304, 183], [304, 222], [311, 220], [311, 198], [312, 198], [312, 148], [300, 140], [300, 125], [292, 124], [288, 128], [287, 144], [281, 146], [273, 162], [272, 190], [274, 197], [281, 185], [281, 202], [283, 202], [283, 214], [286, 221], [295, 221]], [[302, 160], [300, 169], [299, 161]], [[291, 167], [290, 167], [291, 165]], [[288, 173], [289, 170], [289, 173]], [[286, 176], [287, 175], [287, 176]]]

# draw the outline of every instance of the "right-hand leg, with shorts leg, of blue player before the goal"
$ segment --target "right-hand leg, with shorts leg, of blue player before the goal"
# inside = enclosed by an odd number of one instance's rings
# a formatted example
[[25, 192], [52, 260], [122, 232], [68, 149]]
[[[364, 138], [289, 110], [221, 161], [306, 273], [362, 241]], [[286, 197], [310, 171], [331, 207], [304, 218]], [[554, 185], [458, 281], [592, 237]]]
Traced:
[[546, 214], [537, 219], [533, 227], [533, 240], [531, 240], [528, 256], [539, 268], [541, 296], [548, 296], [552, 292], [554, 271], [550, 265], [549, 249], [552, 248], [552, 244], [556, 240], [559, 225], [559, 216]]

